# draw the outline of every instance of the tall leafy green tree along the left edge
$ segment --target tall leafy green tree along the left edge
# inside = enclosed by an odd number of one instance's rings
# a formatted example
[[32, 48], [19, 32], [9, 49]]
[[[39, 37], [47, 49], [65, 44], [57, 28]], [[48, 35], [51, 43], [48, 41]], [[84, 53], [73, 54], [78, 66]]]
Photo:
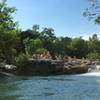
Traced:
[[0, 55], [7, 63], [12, 63], [14, 59], [16, 43], [18, 40], [17, 22], [13, 21], [12, 14], [15, 7], [9, 7], [6, 0], [0, 2]]

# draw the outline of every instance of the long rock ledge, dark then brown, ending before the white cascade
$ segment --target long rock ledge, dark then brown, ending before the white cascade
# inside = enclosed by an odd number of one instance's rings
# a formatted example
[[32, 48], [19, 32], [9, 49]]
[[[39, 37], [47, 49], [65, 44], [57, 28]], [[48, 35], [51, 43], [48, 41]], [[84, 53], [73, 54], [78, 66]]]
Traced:
[[79, 74], [86, 72], [88, 72], [86, 64], [61, 60], [29, 60], [23, 66], [17, 68], [18, 74], [27, 75]]

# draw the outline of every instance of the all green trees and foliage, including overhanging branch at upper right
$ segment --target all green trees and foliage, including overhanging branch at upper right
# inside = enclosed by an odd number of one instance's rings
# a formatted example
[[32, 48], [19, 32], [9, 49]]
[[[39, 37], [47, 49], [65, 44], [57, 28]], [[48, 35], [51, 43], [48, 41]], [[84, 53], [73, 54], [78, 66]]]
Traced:
[[[98, 0], [90, 0], [92, 8], [99, 9]], [[100, 40], [96, 34], [88, 41], [80, 38], [56, 37], [53, 28], [39, 29], [39, 25], [33, 25], [32, 29], [20, 31], [17, 22], [13, 19], [15, 7], [9, 7], [6, 0], [0, 2], [0, 61], [23, 65], [35, 53], [49, 51], [52, 58], [64, 55], [76, 56], [77, 58], [88, 57], [90, 59], [100, 58]], [[90, 19], [94, 17], [96, 23], [100, 24], [100, 16], [86, 9], [84, 16]], [[20, 33], [20, 34], [19, 34]], [[20, 49], [21, 48], [21, 49]], [[20, 50], [19, 50], [20, 49]], [[20, 54], [21, 53], [21, 54]]]

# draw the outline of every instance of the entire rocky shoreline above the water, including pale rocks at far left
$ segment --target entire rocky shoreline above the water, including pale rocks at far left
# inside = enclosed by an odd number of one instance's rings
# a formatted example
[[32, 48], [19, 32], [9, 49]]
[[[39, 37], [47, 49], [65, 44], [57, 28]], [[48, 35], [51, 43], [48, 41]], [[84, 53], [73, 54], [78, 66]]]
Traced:
[[80, 74], [99, 70], [99, 61], [76, 59], [73, 61], [30, 59], [22, 66], [0, 64], [0, 72], [17, 75], [63, 75]]

